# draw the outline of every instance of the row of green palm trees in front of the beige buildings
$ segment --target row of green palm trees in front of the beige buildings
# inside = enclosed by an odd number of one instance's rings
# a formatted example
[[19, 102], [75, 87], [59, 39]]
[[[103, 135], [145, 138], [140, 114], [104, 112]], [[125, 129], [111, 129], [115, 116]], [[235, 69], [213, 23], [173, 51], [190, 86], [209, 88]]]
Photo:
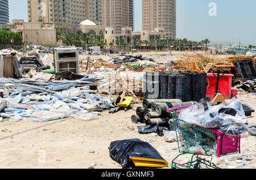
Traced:
[[183, 38], [181, 40], [171, 40], [171, 39], [163, 39], [163, 40], [155, 40], [152, 38], [150, 41], [139, 40], [136, 36], [133, 36], [131, 39], [127, 36], [119, 36], [114, 42], [110, 42], [106, 44], [101, 37], [92, 37], [90, 33], [83, 33], [78, 31], [77, 33], [68, 33], [67, 35], [63, 35], [60, 32], [57, 32], [60, 35], [61, 40], [64, 45], [74, 45], [74, 46], [100, 46], [101, 48], [106, 48], [108, 45], [110, 48], [115, 46], [119, 49], [137, 49], [137, 50], [166, 50], [172, 48], [173, 50], [196, 50], [196, 49], [206, 49], [207, 45], [210, 43], [209, 39], [205, 39], [202, 41], [191, 41], [188, 38]]

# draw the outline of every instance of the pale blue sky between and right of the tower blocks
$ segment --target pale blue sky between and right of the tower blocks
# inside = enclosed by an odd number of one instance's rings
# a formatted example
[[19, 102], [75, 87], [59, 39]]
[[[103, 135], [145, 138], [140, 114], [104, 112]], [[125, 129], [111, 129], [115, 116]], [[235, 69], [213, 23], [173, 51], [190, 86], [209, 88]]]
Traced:
[[[209, 3], [217, 16], [209, 16]], [[255, 0], [177, 0], [177, 37], [256, 45]], [[10, 19], [27, 20], [27, 0], [9, 0]], [[135, 0], [135, 30], [142, 30], [142, 0]]]

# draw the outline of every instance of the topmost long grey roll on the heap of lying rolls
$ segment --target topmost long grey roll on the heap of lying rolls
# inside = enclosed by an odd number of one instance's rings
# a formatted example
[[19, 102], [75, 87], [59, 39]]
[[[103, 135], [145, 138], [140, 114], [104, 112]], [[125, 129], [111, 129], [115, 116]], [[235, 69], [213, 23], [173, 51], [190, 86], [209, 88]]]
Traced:
[[166, 109], [168, 108], [175, 108], [175, 107], [179, 107], [179, 106], [192, 106], [194, 105], [196, 102], [181, 102], [181, 103], [168, 103], [168, 104], [158, 104], [156, 105], [156, 109], [155, 112], [161, 116], [161, 115], [166, 115], [168, 114], [166, 112]]

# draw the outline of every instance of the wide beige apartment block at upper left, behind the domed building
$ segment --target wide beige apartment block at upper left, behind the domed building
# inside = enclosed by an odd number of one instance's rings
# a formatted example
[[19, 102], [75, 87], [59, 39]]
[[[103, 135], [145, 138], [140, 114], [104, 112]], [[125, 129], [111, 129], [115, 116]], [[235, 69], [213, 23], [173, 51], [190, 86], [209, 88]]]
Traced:
[[72, 33], [73, 27], [85, 19], [101, 25], [101, 1], [27, 0], [28, 22], [53, 23], [64, 34]]

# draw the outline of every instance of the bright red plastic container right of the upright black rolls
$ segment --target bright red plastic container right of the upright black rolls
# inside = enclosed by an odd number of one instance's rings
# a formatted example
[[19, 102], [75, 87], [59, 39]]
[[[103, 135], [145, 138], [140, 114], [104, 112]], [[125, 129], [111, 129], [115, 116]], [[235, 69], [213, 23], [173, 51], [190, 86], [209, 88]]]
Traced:
[[[215, 75], [216, 77], [218, 76], [216, 73]], [[231, 89], [233, 76], [233, 74], [225, 74], [218, 82], [218, 92], [221, 93], [224, 98], [230, 99], [232, 97]], [[207, 84], [207, 96], [210, 96], [210, 100], [213, 100], [216, 91], [217, 78], [215, 78], [212, 73], [207, 74]]]

